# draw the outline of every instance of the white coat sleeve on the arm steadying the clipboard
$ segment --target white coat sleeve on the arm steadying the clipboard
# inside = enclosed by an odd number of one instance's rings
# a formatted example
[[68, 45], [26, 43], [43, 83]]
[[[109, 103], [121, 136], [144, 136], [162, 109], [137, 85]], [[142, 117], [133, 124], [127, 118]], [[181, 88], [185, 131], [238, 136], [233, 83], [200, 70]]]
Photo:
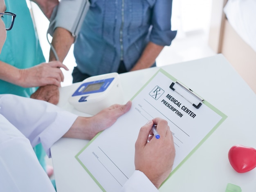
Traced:
[[51, 103], [11, 94], [0, 95], [0, 114], [29, 139], [32, 147], [42, 143], [48, 156], [50, 147], [77, 118]]

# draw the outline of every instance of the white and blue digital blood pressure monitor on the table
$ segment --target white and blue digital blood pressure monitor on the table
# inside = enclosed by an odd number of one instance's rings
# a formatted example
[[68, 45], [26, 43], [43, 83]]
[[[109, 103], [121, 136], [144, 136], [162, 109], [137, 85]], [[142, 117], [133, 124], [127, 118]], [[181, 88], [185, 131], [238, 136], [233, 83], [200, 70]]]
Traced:
[[119, 74], [103, 74], [83, 80], [68, 101], [77, 110], [92, 115], [110, 105], [123, 104], [124, 96]]

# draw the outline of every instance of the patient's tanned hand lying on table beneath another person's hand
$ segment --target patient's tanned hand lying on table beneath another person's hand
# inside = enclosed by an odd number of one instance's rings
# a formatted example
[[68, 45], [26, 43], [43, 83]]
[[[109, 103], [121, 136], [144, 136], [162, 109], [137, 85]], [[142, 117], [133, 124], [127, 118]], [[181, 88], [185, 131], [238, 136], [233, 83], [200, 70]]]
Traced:
[[30, 98], [45, 100], [54, 105], [58, 104], [58, 100], [60, 98], [60, 92], [56, 85], [45, 85], [43, 87], [39, 87], [36, 92], [34, 92]]

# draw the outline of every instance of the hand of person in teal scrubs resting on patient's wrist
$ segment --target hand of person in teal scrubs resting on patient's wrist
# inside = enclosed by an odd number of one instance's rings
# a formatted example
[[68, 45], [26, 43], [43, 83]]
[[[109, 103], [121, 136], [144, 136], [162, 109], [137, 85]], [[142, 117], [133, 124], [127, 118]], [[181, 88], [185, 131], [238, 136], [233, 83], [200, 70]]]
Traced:
[[21, 87], [39, 87], [45, 85], [61, 87], [64, 76], [60, 68], [68, 71], [68, 68], [59, 61], [51, 61], [27, 69], [19, 69], [20, 78], [18, 79], [17, 85]]

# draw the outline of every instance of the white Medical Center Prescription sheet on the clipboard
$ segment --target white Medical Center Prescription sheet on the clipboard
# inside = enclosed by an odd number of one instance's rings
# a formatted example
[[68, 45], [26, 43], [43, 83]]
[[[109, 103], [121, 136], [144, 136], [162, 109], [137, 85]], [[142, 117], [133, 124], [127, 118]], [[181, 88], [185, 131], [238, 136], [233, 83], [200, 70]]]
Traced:
[[102, 190], [119, 191], [132, 175], [135, 141], [139, 129], [149, 120], [160, 117], [168, 121], [176, 150], [174, 170], [222, 119], [205, 104], [196, 109], [190, 102], [197, 105], [200, 101], [177, 83], [173, 88], [184, 97], [170, 89], [173, 82], [161, 71], [157, 72], [133, 98], [130, 111], [77, 156]]

